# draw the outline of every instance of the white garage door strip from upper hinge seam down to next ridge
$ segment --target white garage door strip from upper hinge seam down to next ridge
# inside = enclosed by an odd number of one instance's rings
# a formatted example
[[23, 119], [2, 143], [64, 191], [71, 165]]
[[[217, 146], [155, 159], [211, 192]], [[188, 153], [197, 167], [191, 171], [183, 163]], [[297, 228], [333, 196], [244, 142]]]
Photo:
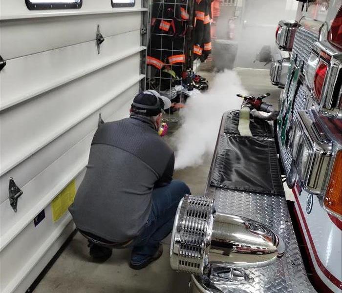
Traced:
[[98, 54], [95, 42], [85, 42], [10, 60], [0, 76], [0, 109], [21, 103], [143, 49], [140, 30], [135, 30], [108, 37], [101, 45], [101, 54]]

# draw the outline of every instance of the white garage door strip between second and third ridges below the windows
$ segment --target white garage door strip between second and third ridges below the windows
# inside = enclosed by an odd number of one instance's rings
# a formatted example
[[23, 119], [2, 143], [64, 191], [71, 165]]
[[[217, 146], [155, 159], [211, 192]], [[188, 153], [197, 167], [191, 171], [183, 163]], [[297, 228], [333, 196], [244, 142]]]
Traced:
[[1, 174], [75, 126], [139, 77], [140, 54], [2, 112]]

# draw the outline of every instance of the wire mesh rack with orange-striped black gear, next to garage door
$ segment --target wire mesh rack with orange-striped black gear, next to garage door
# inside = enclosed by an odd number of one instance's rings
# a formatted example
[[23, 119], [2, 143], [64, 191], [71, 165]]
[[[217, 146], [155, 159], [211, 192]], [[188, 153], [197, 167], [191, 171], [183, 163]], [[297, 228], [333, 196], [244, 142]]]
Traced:
[[148, 44], [147, 88], [163, 92], [181, 84], [186, 63], [188, 0], [154, 0]]

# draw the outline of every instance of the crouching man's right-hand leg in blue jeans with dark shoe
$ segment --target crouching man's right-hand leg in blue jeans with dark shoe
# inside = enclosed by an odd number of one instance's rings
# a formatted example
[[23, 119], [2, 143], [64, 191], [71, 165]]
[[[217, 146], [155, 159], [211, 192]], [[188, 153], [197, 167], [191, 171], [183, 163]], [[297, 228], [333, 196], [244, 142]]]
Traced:
[[190, 194], [189, 187], [180, 180], [152, 191], [152, 209], [149, 219], [133, 244], [131, 262], [140, 264], [158, 250], [159, 243], [172, 230], [179, 201]]

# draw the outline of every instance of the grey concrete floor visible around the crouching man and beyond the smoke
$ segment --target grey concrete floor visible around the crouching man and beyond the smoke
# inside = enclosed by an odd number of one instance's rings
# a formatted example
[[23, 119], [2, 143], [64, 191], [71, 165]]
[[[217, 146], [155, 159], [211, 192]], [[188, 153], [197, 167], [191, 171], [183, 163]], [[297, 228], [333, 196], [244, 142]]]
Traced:
[[[267, 70], [236, 71], [251, 94], [270, 92], [268, 103], [278, 106], [280, 92], [271, 85]], [[200, 74], [209, 81], [212, 78], [211, 73]], [[203, 194], [211, 160], [212, 154], [207, 154], [201, 166], [176, 171], [174, 178], [185, 181], [192, 194]], [[77, 233], [34, 293], [186, 293], [189, 275], [170, 268], [170, 236], [163, 241], [163, 246], [164, 253], [160, 259], [143, 270], [134, 271], [128, 267], [130, 250], [126, 249], [114, 250], [104, 264], [91, 262], [87, 241]]]

